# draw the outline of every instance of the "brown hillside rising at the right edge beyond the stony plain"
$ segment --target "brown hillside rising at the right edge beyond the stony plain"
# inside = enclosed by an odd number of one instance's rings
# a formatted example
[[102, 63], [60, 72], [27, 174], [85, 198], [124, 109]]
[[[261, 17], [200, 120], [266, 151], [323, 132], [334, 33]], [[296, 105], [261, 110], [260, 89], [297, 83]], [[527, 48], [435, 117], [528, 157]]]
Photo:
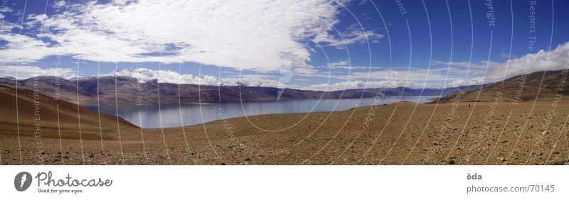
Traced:
[[[460, 99], [463, 102], [523, 102], [523, 101], [552, 101], [559, 95], [569, 94], [569, 89], [564, 87], [568, 81], [567, 71], [533, 72], [511, 77], [504, 82], [488, 84], [482, 89], [465, 91], [460, 95], [458, 92], [442, 96], [439, 103]], [[501, 96], [501, 97], [500, 97]], [[436, 103], [437, 100], [431, 103]]]

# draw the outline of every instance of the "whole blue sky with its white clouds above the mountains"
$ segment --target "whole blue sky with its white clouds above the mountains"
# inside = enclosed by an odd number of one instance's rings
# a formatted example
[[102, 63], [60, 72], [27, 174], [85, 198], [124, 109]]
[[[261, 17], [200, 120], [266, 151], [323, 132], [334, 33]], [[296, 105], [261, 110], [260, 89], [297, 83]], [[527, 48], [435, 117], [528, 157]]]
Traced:
[[162, 82], [334, 90], [496, 82], [528, 62], [563, 69], [569, 2], [490, 2], [8, 1], [0, 76], [143, 68]]

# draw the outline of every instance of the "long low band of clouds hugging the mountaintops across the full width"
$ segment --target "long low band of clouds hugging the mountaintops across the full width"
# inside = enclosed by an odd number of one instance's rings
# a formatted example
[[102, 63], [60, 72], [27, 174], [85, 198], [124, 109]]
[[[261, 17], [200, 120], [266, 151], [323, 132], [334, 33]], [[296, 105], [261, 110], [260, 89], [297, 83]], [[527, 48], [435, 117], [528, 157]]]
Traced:
[[[267, 79], [260, 75], [242, 75], [235, 77], [218, 78], [207, 75], [179, 74], [169, 70], [149, 70], [145, 68], [126, 69], [102, 74], [107, 76], [129, 76], [139, 79], [140, 82], [147, 82], [157, 79], [161, 83], [172, 84], [202, 84], [202, 85], [228, 85], [236, 86], [244, 84], [253, 87], [288, 87], [294, 89], [310, 89], [320, 91], [334, 91], [342, 89], [362, 89], [377, 87], [410, 87], [410, 88], [442, 88], [459, 87], [475, 84], [486, 84], [499, 82], [503, 77], [509, 78], [524, 73], [539, 72], [543, 70], [563, 70], [569, 63], [569, 43], [558, 45], [551, 51], [540, 50], [534, 54], [528, 54], [514, 60], [506, 62], [441, 62], [433, 61], [432, 65], [442, 65], [447, 67], [426, 69], [411, 69], [390, 71], [381, 67], [371, 67], [371, 72], [353, 72], [350, 76], [332, 75], [334, 78], [344, 79], [343, 82], [333, 82], [331, 84], [312, 84], [299, 85], [294, 80], [302, 78], [295, 77], [288, 83], [279, 83], [276, 79]], [[334, 68], [346, 68], [347, 62], [336, 62], [330, 64]], [[488, 72], [484, 76], [484, 71], [488, 65]], [[468, 75], [466, 69], [470, 66]], [[351, 67], [351, 66], [350, 66]], [[353, 68], [358, 68], [353, 66]], [[369, 69], [369, 68], [367, 68]], [[507, 70], [506, 70], [507, 69]], [[447, 70], [450, 70], [447, 76]], [[17, 74], [16, 74], [17, 71]], [[395, 72], [395, 74], [393, 73]], [[505, 74], [505, 76], [504, 76]], [[299, 74], [293, 74], [293, 76]], [[302, 74], [301, 74], [302, 75]], [[0, 67], [0, 77], [16, 77], [27, 79], [36, 76], [57, 76], [66, 79], [78, 77], [76, 70], [72, 68], [48, 68], [42, 69], [30, 65], [5, 65]], [[300, 76], [302, 77], [302, 76]], [[368, 79], [368, 82], [365, 80]], [[425, 82], [426, 79], [426, 82]], [[308, 79], [304, 79], [305, 81]], [[437, 81], [446, 82], [432, 83]]]

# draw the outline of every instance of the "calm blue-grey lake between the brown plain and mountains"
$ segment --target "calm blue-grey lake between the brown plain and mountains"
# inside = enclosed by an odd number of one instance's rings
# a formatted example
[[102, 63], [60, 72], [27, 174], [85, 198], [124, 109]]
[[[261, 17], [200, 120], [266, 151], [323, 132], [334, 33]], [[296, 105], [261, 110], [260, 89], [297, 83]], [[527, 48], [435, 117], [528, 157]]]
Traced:
[[[153, 104], [139, 106], [86, 106], [134, 123], [142, 128], [168, 128], [190, 126], [220, 118], [255, 116], [275, 113], [308, 113], [345, 111], [354, 107], [390, 104], [398, 101], [425, 103], [438, 96], [385, 96], [376, 103], [374, 98], [365, 99], [299, 99], [284, 101], [261, 101], [224, 104]], [[182, 121], [182, 119], [184, 119]]]

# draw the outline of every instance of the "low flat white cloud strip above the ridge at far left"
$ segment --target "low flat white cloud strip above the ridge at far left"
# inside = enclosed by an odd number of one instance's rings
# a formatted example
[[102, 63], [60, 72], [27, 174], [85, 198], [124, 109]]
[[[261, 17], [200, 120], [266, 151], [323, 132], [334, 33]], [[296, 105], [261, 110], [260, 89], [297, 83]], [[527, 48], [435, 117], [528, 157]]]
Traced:
[[0, 77], [14, 77], [16, 79], [28, 79], [39, 76], [62, 77], [64, 79], [73, 79], [77, 77], [77, 71], [70, 68], [48, 68], [41, 69], [36, 66], [0, 66]]

